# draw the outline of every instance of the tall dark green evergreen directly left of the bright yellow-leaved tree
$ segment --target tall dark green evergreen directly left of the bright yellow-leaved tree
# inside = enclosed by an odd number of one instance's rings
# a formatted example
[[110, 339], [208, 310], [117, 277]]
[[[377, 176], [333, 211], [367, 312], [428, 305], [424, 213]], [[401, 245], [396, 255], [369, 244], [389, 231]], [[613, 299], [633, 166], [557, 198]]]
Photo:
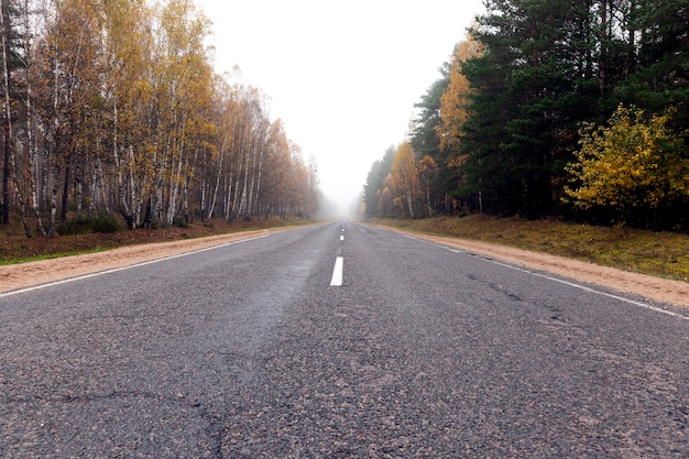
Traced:
[[473, 89], [463, 193], [491, 214], [553, 215], [576, 125], [595, 107], [592, 19], [569, 1], [486, 7], [473, 31], [485, 52], [463, 66]]

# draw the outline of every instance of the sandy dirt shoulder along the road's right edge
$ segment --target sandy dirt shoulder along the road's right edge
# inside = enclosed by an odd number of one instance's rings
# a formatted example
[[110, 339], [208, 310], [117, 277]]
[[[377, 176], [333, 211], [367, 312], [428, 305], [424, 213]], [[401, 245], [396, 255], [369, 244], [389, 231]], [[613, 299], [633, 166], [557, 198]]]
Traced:
[[385, 229], [411, 234], [442, 245], [461, 249], [495, 260], [501, 260], [529, 270], [545, 271], [581, 283], [601, 285], [619, 292], [627, 292], [654, 302], [689, 307], [689, 284], [669, 281], [645, 274], [631, 273], [614, 267], [601, 266], [579, 260], [545, 253], [529, 252], [505, 245], [478, 242], [466, 239], [441, 238], [436, 236], [406, 232], [390, 227]]

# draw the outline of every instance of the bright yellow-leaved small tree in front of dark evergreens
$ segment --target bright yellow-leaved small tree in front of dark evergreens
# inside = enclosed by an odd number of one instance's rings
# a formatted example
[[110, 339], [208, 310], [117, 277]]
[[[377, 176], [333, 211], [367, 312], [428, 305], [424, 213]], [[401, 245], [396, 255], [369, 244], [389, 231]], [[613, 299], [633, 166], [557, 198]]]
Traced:
[[582, 208], [621, 209], [655, 209], [687, 196], [689, 160], [680, 136], [667, 129], [670, 117], [646, 119], [642, 110], [620, 106], [608, 127], [582, 125], [577, 162], [567, 166], [579, 186], [565, 193]]

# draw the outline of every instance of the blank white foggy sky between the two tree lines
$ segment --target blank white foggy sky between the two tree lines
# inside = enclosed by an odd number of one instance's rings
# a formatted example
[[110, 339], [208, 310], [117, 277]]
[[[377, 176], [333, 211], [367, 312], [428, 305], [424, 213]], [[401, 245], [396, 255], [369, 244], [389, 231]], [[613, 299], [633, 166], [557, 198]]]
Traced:
[[214, 22], [218, 73], [239, 66], [271, 98], [340, 210], [374, 161], [405, 140], [481, 0], [196, 0]]

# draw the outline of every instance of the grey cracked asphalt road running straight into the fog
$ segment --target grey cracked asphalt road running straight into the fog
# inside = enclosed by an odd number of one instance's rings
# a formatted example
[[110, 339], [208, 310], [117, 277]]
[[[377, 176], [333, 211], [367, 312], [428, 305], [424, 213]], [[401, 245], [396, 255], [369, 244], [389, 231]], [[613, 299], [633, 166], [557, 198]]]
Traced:
[[0, 457], [683, 458], [687, 316], [299, 228], [0, 295]]

